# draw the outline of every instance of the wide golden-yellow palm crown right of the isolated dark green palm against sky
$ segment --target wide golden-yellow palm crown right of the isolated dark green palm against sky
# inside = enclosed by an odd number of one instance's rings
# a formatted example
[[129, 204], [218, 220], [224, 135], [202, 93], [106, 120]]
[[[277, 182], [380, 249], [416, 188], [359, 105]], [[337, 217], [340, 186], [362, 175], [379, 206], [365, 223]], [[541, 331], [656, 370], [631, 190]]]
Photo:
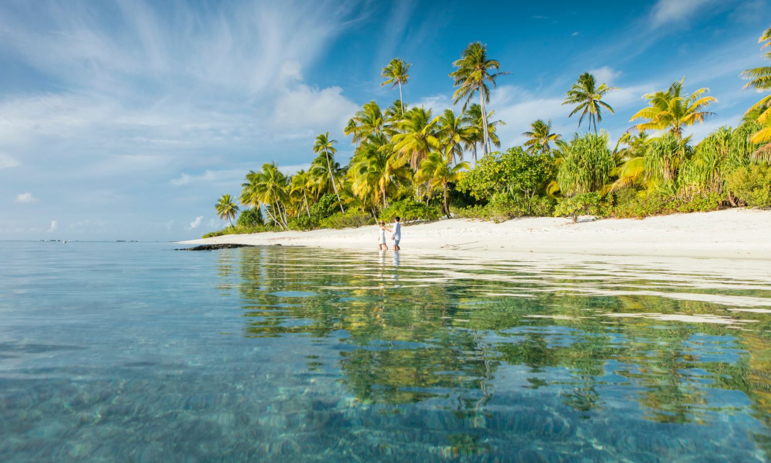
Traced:
[[704, 122], [704, 118], [715, 113], [704, 111], [706, 106], [717, 100], [712, 96], [702, 96], [709, 92], [701, 88], [689, 96], [681, 96], [683, 77], [679, 82], [672, 83], [665, 92], [648, 93], [643, 96], [650, 106], [638, 111], [629, 120], [647, 120], [638, 123], [637, 130], [663, 130], [668, 128], [678, 140], [682, 140], [682, 127]]

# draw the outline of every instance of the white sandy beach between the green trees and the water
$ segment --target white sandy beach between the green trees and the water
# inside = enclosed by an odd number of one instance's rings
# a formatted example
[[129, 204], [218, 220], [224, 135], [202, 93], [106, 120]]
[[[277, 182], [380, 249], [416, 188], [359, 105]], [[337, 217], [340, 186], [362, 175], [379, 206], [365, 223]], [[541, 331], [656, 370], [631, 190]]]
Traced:
[[[577, 224], [565, 218], [519, 218], [501, 224], [452, 219], [402, 229], [402, 251], [771, 260], [771, 211], [748, 209], [662, 215], [644, 220], [587, 220]], [[224, 235], [181, 243], [376, 250], [376, 236], [372, 225], [344, 230]]]

